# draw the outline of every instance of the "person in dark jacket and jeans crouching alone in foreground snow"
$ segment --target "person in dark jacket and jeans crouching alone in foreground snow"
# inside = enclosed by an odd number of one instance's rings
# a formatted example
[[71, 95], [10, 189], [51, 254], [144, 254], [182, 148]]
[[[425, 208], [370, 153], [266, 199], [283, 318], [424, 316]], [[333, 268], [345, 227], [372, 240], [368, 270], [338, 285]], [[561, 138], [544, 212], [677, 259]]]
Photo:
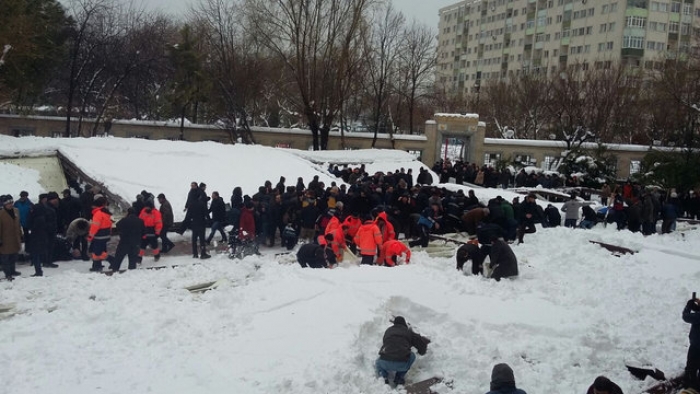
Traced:
[[394, 325], [384, 332], [382, 348], [374, 366], [386, 384], [389, 384], [389, 372], [396, 372], [394, 384], [400, 385], [406, 383], [406, 373], [416, 361], [416, 355], [411, 348], [415, 347], [422, 356], [428, 351], [430, 339], [413, 332], [402, 316], [396, 316], [393, 323]]

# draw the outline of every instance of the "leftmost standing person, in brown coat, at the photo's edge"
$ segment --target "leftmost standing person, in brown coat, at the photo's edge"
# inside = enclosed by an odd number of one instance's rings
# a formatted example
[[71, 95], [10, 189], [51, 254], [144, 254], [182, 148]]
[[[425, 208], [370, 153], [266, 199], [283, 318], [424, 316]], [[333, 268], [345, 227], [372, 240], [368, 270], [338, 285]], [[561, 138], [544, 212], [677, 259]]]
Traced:
[[0, 196], [0, 266], [7, 280], [20, 275], [15, 264], [22, 249], [22, 226], [13, 204], [12, 196]]

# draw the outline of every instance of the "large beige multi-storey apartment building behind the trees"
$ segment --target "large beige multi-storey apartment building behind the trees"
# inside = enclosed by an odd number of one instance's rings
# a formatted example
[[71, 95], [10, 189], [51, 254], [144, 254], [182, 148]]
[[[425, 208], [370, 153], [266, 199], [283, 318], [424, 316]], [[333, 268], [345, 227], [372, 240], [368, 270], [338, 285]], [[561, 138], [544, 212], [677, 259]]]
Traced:
[[572, 65], [658, 68], [700, 32], [700, 0], [464, 0], [439, 14], [436, 81], [454, 93]]

